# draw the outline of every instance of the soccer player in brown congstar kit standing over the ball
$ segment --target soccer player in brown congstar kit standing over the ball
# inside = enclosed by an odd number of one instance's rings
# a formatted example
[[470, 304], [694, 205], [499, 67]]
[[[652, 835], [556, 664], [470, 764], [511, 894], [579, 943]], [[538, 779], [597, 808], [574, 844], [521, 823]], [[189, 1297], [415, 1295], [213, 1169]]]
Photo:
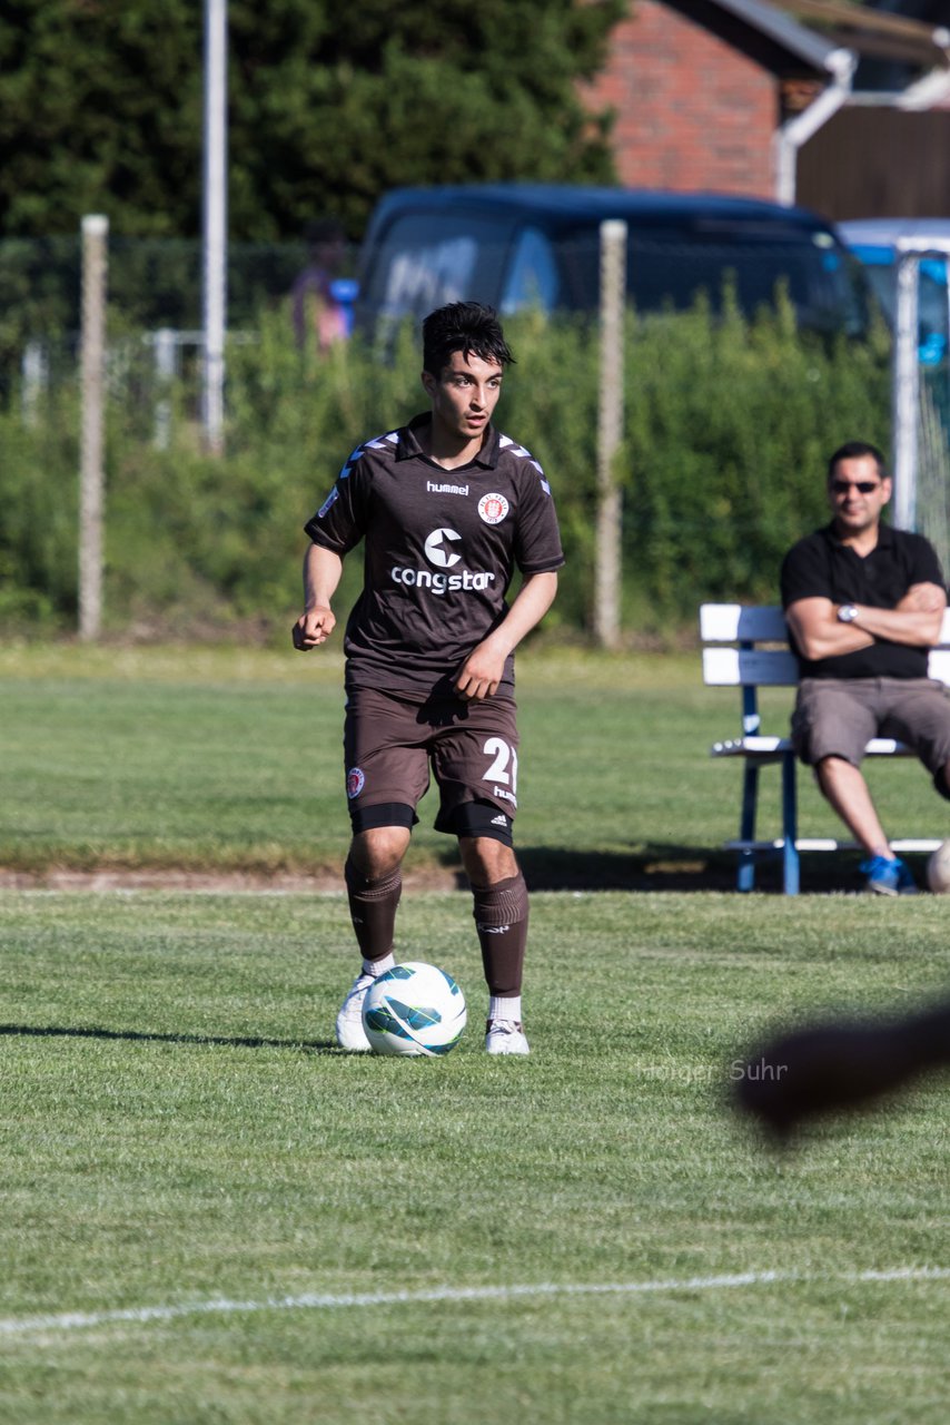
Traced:
[[[336, 623], [345, 556], [365, 540], [350, 611], [343, 757], [353, 838], [345, 866], [363, 962], [336, 1019], [366, 1050], [362, 1009], [395, 963], [402, 862], [416, 808], [439, 788], [436, 829], [459, 841], [489, 986], [486, 1049], [527, 1054], [521, 976], [528, 896], [513, 851], [516, 646], [551, 606], [564, 563], [551, 490], [491, 416], [513, 361], [491, 308], [454, 302], [423, 322], [430, 410], [352, 453], [306, 523], [301, 651]], [[520, 571], [521, 586], [506, 594]]]

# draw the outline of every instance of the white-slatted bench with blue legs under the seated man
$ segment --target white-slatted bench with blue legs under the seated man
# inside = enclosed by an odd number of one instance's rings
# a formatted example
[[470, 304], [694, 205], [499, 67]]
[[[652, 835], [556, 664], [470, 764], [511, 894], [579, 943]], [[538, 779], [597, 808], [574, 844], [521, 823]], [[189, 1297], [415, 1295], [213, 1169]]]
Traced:
[[[762, 732], [759, 688], [798, 685], [795, 654], [788, 646], [785, 617], [776, 606], [743, 607], [742, 604], [704, 604], [699, 610], [702, 640], [702, 678], [708, 687], [741, 690], [739, 735], [714, 742], [711, 757], [742, 760], [742, 802], [739, 836], [726, 841], [729, 851], [739, 856], [738, 889], [755, 886], [756, 859], [761, 855], [782, 858], [782, 885], [786, 895], [799, 889], [799, 852], [853, 849], [855, 842], [833, 838], [802, 838], [798, 835], [796, 760], [788, 735]], [[950, 610], [944, 616], [940, 646], [930, 654], [930, 677], [950, 684]], [[792, 704], [789, 703], [789, 717]], [[889, 737], [876, 737], [867, 744], [869, 757], [912, 757], [910, 748]], [[756, 841], [755, 822], [759, 799], [759, 771], [772, 762], [781, 765], [782, 828], [773, 841]], [[896, 852], [934, 851], [940, 838], [892, 841]]]

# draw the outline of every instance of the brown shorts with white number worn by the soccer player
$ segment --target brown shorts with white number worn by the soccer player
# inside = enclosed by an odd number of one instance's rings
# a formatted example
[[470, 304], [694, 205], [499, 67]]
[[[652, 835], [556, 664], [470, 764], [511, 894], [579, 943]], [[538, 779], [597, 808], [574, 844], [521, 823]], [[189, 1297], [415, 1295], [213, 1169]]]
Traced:
[[510, 845], [518, 805], [516, 711], [511, 698], [417, 703], [352, 688], [343, 757], [353, 831], [414, 825], [432, 772], [439, 787], [436, 831]]

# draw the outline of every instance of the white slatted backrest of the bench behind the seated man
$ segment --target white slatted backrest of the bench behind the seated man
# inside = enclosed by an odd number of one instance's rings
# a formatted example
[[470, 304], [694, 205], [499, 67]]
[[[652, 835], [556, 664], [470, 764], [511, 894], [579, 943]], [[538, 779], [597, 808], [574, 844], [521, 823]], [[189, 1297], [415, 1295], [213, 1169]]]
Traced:
[[[702, 681], [711, 687], [766, 688], [795, 687], [798, 683], [798, 664], [788, 646], [785, 614], [778, 604], [704, 604], [699, 610], [699, 637], [704, 643]], [[708, 644], [712, 647], [705, 647]], [[930, 653], [929, 671], [931, 678], [950, 684], [950, 610], [943, 616], [940, 646]]]

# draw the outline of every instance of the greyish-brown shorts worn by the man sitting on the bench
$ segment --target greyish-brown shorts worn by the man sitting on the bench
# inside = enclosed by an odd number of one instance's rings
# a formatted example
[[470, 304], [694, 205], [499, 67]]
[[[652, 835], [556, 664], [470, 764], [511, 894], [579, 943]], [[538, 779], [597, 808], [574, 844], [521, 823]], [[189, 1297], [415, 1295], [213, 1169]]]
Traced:
[[[927, 771], [950, 762], [950, 697], [934, 678], [802, 678], [792, 745], [813, 767], [842, 757], [860, 767], [872, 737], [913, 747]], [[943, 788], [941, 788], [943, 789]]]

